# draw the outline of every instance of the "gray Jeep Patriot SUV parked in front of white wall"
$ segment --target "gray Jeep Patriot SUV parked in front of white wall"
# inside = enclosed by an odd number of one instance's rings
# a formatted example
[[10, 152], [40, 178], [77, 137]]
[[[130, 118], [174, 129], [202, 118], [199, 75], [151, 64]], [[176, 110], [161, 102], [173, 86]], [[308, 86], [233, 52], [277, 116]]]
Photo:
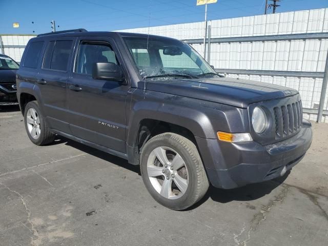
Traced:
[[199, 201], [210, 182], [232, 189], [284, 175], [312, 141], [297, 91], [222, 77], [168, 37], [41, 34], [16, 81], [34, 144], [58, 134], [140, 165], [149, 193], [174, 210]]

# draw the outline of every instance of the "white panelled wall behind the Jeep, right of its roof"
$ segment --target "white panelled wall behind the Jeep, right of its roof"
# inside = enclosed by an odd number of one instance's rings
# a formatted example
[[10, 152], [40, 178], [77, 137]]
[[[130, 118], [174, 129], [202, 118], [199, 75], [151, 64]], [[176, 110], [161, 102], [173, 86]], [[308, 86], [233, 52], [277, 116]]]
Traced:
[[[317, 119], [315, 111], [319, 106], [328, 50], [328, 8], [218, 19], [211, 20], [208, 25], [211, 26], [211, 65], [218, 71], [221, 69], [226, 72], [229, 77], [253, 79], [297, 89], [304, 109], [308, 109], [305, 112], [311, 112], [304, 113], [304, 117]], [[186, 40], [203, 54], [204, 22], [120, 31]], [[305, 33], [327, 35], [314, 38], [304, 35], [299, 38], [295, 35], [293, 38], [290, 35]], [[265, 40], [265, 36], [269, 35], [279, 35], [279, 38], [273, 36], [271, 40]], [[243, 40], [244, 37], [255, 36], [263, 36], [263, 40]], [[222, 42], [223, 38], [231, 37], [234, 39]], [[270, 72], [265, 74], [265, 71]], [[275, 75], [276, 71], [280, 74]], [[281, 75], [281, 71], [285, 71], [285, 74]], [[328, 122], [328, 93], [325, 98], [322, 121]]]

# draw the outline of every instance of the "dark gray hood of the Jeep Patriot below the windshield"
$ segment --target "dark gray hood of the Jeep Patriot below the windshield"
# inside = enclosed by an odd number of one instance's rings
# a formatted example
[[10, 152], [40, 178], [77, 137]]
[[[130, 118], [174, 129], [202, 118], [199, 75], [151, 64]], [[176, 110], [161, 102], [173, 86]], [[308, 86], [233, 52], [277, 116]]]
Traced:
[[252, 103], [298, 93], [294, 89], [283, 86], [226, 77], [154, 80], [147, 83], [146, 89], [239, 108], [247, 108]]

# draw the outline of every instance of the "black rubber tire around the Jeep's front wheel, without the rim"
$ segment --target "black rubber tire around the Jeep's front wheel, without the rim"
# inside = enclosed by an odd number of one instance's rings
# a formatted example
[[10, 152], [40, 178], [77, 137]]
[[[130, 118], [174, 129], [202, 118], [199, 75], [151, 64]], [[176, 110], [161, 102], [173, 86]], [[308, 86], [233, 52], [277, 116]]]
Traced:
[[[157, 147], [169, 147], [178, 153], [188, 170], [188, 188], [177, 199], [168, 199], [159, 194], [148, 176], [148, 158]], [[208, 191], [209, 181], [196, 146], [186, 137], [175, 133], [162, 133], [152, 137], [141, 151], [140, 171], [142, 180], [151, 196], [163, 206], [172, 210], [184, 210], [199, 201]], [[165, 178], [164, 178], [165, 179]]]

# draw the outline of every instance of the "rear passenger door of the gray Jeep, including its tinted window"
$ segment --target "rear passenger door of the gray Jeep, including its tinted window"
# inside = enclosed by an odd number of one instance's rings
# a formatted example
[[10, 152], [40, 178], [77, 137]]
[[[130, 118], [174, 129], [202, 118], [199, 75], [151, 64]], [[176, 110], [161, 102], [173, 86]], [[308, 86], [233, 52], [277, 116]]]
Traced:
[[51, 128], [70, 133], [67, 118], [66, 84], [70, 75], [75, 37], [49, 39], [36, 77], [44, 113]]

